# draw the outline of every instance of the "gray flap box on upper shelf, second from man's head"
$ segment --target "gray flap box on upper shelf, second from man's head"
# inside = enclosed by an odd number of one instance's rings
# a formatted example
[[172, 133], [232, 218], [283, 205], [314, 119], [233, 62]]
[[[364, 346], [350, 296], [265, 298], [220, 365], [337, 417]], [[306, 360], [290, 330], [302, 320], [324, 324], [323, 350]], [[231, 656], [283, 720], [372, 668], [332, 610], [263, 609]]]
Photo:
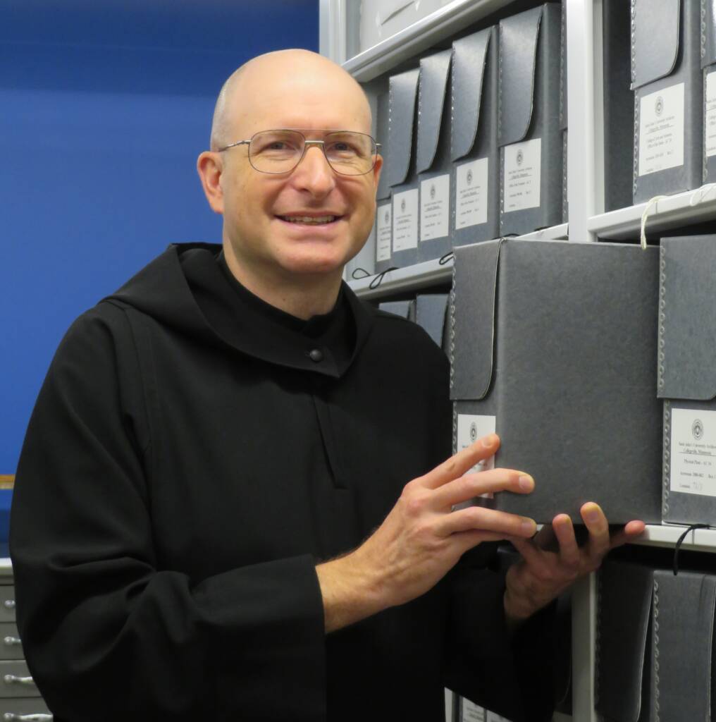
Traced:
[[403, 267], [418, 260], [419, 199], [415, 121], [420, 69], [390, 76], [388, 101], [388, 186], [393, 199], [391, 263]]

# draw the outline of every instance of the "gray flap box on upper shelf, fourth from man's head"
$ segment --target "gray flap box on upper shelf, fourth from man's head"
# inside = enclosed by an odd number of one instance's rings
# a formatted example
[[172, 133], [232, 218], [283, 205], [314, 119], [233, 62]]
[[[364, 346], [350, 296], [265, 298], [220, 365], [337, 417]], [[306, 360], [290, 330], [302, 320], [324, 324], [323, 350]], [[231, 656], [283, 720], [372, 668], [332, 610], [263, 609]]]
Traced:
[[498, 38], [497, 27], [487, 27], [453, 43], [453, 245], [499, 235]]

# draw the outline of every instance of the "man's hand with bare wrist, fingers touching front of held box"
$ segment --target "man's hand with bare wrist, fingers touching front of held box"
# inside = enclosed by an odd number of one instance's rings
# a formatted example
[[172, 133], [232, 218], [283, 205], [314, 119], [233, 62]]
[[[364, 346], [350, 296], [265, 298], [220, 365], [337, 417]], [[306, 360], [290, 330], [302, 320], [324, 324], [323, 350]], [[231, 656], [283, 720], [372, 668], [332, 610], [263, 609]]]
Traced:
[[498, 447], [497, 435], [486, 436], [413, 479], [360, 547], [316, 567], [326, 632], [415, 599], [481, 541], [535, 534], [533, 519], [476, 506], [453, 511], [454, 505], [482, 494], [533, 490], [532, 477], [523, 471], [468, 473]]

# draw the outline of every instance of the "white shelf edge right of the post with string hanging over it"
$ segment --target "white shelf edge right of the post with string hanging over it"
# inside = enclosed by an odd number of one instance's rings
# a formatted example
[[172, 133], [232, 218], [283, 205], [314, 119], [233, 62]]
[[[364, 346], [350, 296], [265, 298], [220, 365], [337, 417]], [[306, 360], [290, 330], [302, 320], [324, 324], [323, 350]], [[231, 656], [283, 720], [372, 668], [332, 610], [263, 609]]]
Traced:
[[[619, 208], [587, 221], [587, 228], [604, 240], [639, 240], [646, 203]], [[716, 219], [716, 186], [704, 186], [667, 196], [652, 204], [647, 217], [647, 238], [679, 226]]]

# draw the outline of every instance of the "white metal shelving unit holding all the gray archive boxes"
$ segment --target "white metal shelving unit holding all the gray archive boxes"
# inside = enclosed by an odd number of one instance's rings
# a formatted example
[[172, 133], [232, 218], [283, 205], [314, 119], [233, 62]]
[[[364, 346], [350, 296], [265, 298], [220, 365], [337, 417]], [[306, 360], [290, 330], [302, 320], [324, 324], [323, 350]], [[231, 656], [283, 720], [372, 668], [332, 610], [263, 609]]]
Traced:
[[[538, 231], [527, 238], [572, 240], [637, 240], [647, 204], [604, 212], [604, 119], [602, 0], [562, 0], [567, 4], [567, 199], [569, 224]], [[349, 17], [357, 17], [359, 0], [320, 0], [323, 54], [343, 64], [359, 82], [369, 82], [403, 61], [446, 40], [468, 24], [510, 6], [510, 0], [453, 0], [439, 11], [352, 58], [346, 48]], [[535, 0], [535, 5], [539, 4]], [[353, 15], [350, 15], [350, 12]], [[716, 219], [716, 187], [661, 199], [649, 209], [647, 235], [687, 223]], [[375, 277], [351, 282], [358, 295], [378, 298], [422, 290], [450, 281], [452, 263], [417, 264], [385, 274], [377, 288]], [[660, 483], [660, 482], [659, 482]], [[647, 526], [638, 544], [673, 548], [686, 527]], [[685, 549], [716, 552], [716, 530], [692, 531]], [[572, 595], [572, 679], [575, 722], [598, 722], [594, 711], [594, 651], [596, 619], [595, 577], [577, 583]], [[564, 719], [564, 717], [560, 717]]]

